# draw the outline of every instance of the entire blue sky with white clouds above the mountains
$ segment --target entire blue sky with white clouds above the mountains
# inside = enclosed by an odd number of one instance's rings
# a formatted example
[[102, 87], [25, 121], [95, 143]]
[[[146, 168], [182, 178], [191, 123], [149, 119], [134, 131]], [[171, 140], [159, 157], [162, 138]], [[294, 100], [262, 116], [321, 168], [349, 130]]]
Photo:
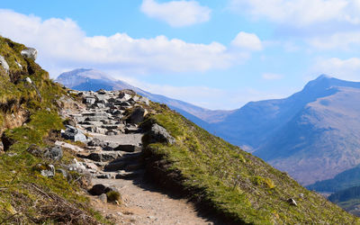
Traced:
[[208, 109], [360, 81], [360, 0], [12, 0], [0, 35], [52, 78], [94, 68]]

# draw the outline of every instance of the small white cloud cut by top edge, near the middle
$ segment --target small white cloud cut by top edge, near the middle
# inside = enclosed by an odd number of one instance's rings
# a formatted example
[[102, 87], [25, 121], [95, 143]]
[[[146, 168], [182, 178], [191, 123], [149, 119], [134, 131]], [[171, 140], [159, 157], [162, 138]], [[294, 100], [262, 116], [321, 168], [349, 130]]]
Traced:
[[173, 27], [207, 22], [211, 14], [209, 7], [202, 6], [196, 1], [170, 1], [159, 4], [154, 0], [143, 0], [141, 11]]

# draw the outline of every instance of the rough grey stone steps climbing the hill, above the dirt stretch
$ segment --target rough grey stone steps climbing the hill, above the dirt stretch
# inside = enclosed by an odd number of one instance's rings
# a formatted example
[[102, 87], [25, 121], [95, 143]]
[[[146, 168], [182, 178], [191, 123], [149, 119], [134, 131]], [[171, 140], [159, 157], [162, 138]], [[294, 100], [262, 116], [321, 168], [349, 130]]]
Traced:
[[[77, 154], [94, 178], [123, 179], [142, 175], [141, 138], [138, 128], [148, 99], [131, 91], [73, 92], [83, 99], [82, 112], [67, 113], [62, 136], [86, 144]], [[86, 135], [85, 135], [86, 134]], [[84, 167], [83, 167], [84, 168]]]

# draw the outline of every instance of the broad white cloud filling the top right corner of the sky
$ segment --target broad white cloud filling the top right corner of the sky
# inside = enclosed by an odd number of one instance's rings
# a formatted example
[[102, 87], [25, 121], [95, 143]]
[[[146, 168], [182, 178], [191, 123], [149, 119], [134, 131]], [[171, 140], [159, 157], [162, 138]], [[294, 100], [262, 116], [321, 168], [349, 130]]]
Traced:
[[255, 18], [307, 26], [313, 23], [360, 24], [359, 0], [231, 0], [230, 7]]

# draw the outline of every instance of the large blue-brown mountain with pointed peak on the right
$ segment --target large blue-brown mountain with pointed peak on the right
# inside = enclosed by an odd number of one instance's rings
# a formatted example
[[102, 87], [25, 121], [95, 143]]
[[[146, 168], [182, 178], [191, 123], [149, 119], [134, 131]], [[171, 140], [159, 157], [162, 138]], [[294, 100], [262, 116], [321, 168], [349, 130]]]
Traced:
[[285, 99], [247, 103], [211, 124], [302, 184], [360, 163], [360, 83], [319, 76]]

